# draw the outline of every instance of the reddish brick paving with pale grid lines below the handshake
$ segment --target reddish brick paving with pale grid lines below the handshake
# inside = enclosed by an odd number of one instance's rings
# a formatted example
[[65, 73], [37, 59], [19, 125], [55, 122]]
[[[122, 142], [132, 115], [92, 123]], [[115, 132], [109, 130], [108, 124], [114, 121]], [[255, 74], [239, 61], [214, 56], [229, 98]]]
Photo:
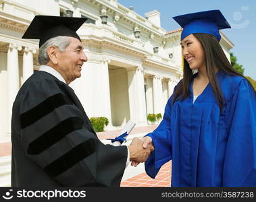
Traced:
[[170, 187], [172, 164], [168, 162], [159, 170], [155, 179], [145, 172], [121, 182], [121, 187]]

